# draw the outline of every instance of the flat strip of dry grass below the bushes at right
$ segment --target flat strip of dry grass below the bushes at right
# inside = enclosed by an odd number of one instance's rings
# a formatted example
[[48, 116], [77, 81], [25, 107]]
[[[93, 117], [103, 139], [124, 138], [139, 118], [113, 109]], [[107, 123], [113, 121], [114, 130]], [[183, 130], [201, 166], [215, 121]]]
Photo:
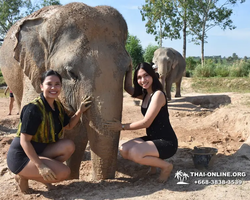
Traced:
[[237, 92], [250, 93], [250, 78], [212, 77], [192, 78], [192, 88], [195, 92], [223, 93]]

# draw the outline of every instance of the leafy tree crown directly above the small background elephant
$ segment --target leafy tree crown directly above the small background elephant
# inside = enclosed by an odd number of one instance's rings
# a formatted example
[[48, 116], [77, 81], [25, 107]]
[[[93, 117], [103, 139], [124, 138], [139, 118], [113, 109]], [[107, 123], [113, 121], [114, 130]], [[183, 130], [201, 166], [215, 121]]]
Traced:
[[142, 20], [147, 20], [146, 32], [155, 35], [155, 41], [162, 47], [162, 40], [180, 39], [180, 19], [172, 0], [145, 0], [140, 9]]

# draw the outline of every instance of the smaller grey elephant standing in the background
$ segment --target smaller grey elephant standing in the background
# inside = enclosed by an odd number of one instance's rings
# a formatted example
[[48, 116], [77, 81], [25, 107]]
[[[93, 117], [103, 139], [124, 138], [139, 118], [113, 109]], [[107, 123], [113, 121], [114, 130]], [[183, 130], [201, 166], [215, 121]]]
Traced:
[[186, 62], [182, 55], [173, 48], [158, 48], [154, 52], [153, 63], [158, 68], [160, 82], [171, 100], [172, 83], [176, 84], [175, 97], [181, 97], [181, 81], [186, 70]]

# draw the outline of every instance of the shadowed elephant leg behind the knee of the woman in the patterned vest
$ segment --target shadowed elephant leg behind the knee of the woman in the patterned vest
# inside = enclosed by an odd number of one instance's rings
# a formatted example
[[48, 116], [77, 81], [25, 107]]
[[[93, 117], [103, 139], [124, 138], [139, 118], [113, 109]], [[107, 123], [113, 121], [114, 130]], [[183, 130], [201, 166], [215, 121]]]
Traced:
[[71, 170], [69, 179], [79, 179], [79, 169], [88, 143], [86, 128], [79, 123], [72, 130], [66, 130], [64, 138], [71, 139], [75, 143], [75, 152], [66, 161]]

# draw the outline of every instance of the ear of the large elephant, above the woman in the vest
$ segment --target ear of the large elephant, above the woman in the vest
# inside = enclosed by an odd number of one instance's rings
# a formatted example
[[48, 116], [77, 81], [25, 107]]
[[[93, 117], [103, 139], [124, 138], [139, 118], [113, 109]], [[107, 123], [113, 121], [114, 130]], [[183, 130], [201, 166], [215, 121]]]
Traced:
[[40, 74], [46, 69], [46, 44], [40, 36], [43, 18], [25, 19], [15, 33], [14, 58], [35, 90], [40, 92]]

